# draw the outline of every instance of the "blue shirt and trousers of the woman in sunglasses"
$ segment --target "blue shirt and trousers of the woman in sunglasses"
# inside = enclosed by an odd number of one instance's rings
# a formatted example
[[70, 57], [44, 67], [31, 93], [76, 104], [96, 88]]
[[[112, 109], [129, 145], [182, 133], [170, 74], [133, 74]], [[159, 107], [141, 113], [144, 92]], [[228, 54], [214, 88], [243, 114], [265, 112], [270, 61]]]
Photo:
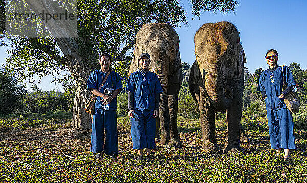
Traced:
[[[289, 67], [284, 66], [284, 77], [288, 86], [295, 85], [295, 80]], [[294, 127], [292, 113], [287, 109], [283, 99], [278, 98], [281, 95], [283, 86], [282, 67], [274, 71], [270, 69], [261, 73], [259, 79], [259, 91], [265, 91], [267, 118], [270, 133], [270, 142], [272, 149], [295, 149], [294, 145]]]

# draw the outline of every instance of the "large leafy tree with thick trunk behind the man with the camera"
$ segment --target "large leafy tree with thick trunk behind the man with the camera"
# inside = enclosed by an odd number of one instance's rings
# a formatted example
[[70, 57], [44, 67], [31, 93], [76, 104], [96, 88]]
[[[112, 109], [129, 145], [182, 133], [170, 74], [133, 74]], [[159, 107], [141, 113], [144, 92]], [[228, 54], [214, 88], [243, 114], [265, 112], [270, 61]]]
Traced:
[[[4, 0], [0, 1], [3, 5]], [[36, 14], [41, 10], [56, 12], [47, 0], [25, 1], [25, 6], [29, 6]], [[191, 0], [191, 4], [196, 16], [203, 10], [226, 13], [237, 6], [234, 0]], [[68, 70], [76, 83], [73, 127], [88, 129], [91, 117], [84, 111], [86, 99], [90, 95], [86, 91], [86, 80], [97, 69], [99, 54], [103, 51], [111, 53], [114, 69], [124, 74], [129, 66], [134, 37], [143, 24], [164, 22], [176, 27], [180, 22], [187, 23], [187, 20], [186, 12], [177, 0], [78, 0], [77, 15], [77, 38], [56, 37], [70, 30], [69, 27], [57, 29], [53, 23], [46, 24], [46, 32], [40, 32], [50, 34], [53, 38], [8, 37], [12, 50], [9, 51], [6, 66], [16, 72], [20, 79], [31, 79], [34, 74], [43, 77]], [[3, 24], [3, 19], [1, 21]]]

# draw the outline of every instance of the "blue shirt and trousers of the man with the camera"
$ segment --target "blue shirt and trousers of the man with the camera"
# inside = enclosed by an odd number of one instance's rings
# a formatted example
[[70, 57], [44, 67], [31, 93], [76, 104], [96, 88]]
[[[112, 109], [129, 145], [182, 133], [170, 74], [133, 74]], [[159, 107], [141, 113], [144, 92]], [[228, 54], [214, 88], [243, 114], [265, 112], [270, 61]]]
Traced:
[[[99, 89], [102, 83], [102, 75], [106, 76], [107, 73], [101, 72], [101, 70], [93, 71], [89, 79], [87, 80], [87, 89], [90, 88]], [[113, 88], [115, 90], [122, 88], [122, 82], [120, 75], [117, 72], [112, 71], [107, 80], [100, 89], [101, 93], [104, 93], [105, 88]], [[93, 116], [92, 123], [92, 135], [91, 135], [91, 152], [99, 153], [104, 152], [107, 155], [118, 154], [118, 138], [117, 138], [117, 119], [116, 110], [117, 102], [115, 97], [109, 103], [109, 110], [102, 109], [102, 97], [98, 96], [95, 103], [95, 114]], [[105, 144], [104, 141], [105, 130]]]

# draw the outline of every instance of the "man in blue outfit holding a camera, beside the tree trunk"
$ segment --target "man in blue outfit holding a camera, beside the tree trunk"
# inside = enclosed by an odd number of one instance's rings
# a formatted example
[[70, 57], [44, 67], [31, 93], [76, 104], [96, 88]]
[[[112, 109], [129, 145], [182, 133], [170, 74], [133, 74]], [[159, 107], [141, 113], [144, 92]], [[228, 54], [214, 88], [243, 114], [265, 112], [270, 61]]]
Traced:
[[103, 53], [99, 64], [101, 69], [93, 71], [87, 80], [87, 89], [98, 96], [92, 123], [91, 152], [97, 153], [95, 159], [102, 157], [102, 151], [114, 159], [118, 154], [116, 96], [122, 90], [122, 82], [120, 75], [111, 70], [111, 55]]

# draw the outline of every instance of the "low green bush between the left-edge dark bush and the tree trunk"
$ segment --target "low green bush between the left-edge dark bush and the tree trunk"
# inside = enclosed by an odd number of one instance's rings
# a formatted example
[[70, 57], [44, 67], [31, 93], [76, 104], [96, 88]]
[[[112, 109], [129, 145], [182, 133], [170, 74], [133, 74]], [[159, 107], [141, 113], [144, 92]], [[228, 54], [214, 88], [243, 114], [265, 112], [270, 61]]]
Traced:
[[23, 99], [24, 106], [31, 113], [68, 111], [68, 100], [59, 91], [34, 91], [27, 93]]

